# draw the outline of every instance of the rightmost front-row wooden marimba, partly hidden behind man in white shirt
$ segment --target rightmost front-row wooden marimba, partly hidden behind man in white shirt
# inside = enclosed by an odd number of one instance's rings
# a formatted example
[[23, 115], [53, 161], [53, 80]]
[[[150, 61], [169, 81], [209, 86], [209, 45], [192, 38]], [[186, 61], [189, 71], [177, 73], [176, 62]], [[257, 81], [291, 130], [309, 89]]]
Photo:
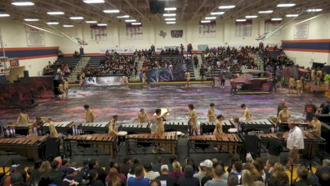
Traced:
[[[313, 132], [304, 130], [304, 149], [301, 150], [302, 155], [305, 158], [312, 158], [315, 156], [315, 153], [318, 153], [321, 157], [324, 157], [325, 146], [327, 145], [325, 139], [320, 136], [317, 136]], [[288, 137], [289, 132], [283, 132], [283, 137]], [[268, 139], [275, 137], [276, 134], [257, 134], [258, 139], [262, 144], [267, 144]], [[286, 141], [282, 140], [283, 147], [286, 147]], [[316, 152], [319, 150], [319, 152]], [[284, 151], [284, 150], [283, 150]], [[260, 155], [261, 152], [259, 152]]]

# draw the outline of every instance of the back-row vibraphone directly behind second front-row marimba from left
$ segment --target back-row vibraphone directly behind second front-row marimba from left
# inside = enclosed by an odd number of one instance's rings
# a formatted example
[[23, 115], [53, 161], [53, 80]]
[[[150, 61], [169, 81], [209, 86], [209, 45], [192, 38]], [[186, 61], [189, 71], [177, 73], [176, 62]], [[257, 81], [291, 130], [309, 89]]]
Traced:
[[77, 127], [78, 134], [92, 134], [99, 133], [104, 134], [108, 133], [109, 123], [108, 122], [98, 122], [98, 123], [81, 123]]

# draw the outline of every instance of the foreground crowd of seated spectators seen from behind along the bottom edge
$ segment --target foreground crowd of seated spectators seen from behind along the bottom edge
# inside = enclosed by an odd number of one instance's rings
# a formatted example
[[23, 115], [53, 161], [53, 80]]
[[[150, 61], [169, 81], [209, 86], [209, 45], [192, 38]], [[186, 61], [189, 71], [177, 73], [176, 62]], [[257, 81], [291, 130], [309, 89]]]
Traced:
[[[329, 185], [330, 160], [323, 160], [315, 173], [306, 166], [297, 167], [297, 179], [291, 185]], [[186, 157], [183, 164], [171, 156], [168, 162], [158, 156], [156, 163], [145, 163], [124, 157], [123, 162], [110, 161], [99, 164], [96, 159], [83, 160], [78, 168], [76, 162], [56, 157], [53, 161], [36, 161], [27, 171], [22, 165], [13, 165], [8, 176], [2, 175], [1, 185], [113, 185], [113, 186], [287, 186], [290, 181], [283, 165], [261, 158], [247, 156], [243, 163], [238, 154], [231, 157], [228, 168], [214, 158], [195, 164]]]

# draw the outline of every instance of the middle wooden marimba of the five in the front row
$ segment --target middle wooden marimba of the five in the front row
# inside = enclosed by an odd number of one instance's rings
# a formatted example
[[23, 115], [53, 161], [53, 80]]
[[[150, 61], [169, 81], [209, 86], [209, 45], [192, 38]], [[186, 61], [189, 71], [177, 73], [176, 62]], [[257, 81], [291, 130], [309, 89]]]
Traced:
[[[130, 134], [126, 138], [127, 155], [148, 154], [146, 153], [146, 149], [144, 149], [144, 153], [139, 153], [137, 148], [133, 148], [133, 144], [136, 144], [136, 146], [140, 144], [140, 146], [144, 147], [163, 144], [167, 151], [174, 155], [178, 149], [178, 136], [176, 132], [165, 132], [164, 134]], [[151, 149], [149, 149], [149, 153], [151, 153]]]

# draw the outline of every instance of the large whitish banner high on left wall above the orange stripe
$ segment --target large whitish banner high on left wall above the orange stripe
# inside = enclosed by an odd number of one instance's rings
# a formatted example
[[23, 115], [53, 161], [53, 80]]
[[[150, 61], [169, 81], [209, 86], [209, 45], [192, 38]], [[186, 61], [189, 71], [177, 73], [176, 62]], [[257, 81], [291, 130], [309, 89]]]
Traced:
[[44, 31], [25, 26], [25, 33], [28, 46], [44, 46]]

